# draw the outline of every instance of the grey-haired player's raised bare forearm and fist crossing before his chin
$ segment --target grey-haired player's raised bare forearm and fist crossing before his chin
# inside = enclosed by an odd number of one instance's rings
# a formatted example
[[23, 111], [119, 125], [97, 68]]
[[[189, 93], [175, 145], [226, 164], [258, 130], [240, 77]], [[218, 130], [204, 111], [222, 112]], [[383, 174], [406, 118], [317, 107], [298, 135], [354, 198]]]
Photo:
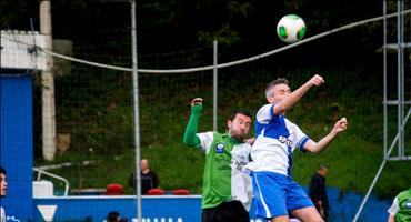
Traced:
[[309, 81], [307, 81], [303, 85], [301, 85], [295, 91], [291, 92], [284, 99], [282, 99], [279, 103], [274, 105], [274, 114], [282, 114], [293, 108], [297, 102], [299, 102], [302, 98], [302, 95], [305, 94], [305, 92], [313, 85], [321, 85], [324, 83], [324, 79], [318, 74], [312, 77]]

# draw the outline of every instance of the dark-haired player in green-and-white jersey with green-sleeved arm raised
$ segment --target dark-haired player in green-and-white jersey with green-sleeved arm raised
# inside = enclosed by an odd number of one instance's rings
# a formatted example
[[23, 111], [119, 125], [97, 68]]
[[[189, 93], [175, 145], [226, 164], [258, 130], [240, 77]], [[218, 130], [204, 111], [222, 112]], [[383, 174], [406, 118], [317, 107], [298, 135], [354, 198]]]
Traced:
[[247, 110], [235, 110], [227, 121], [228, 132], [197, 133], [202, 99], [191, 102], [184, 144], [206, 152], [202, 188], [202, 222], [250, 222], [252, 184], [242, 168], [249, 163], [251, 144], [244, 142], [251, 125]]

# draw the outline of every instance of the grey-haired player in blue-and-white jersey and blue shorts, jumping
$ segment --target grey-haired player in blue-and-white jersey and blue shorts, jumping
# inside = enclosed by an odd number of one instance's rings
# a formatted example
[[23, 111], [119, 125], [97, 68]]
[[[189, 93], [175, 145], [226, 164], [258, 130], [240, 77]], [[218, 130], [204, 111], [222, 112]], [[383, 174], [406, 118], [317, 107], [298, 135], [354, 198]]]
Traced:
[[324, 80], [312, 77], [291, 92], [285, 79], [278, 79], [267, 85], [269, 102], [257, 113], [255, 142], [251, 150], [252, 162], [244, 169], [251, 171], [257, 215], [272, 222], [289, 221], [289, 214], [301, 221], [323, 221], [303, 189], [291, 179], [292, 152], [320, 152], [338, 133], [347, 128], [347, 119], [339, 120], [331, 132], [319, 142], [311, 140], [284, 114], [314, 85]]

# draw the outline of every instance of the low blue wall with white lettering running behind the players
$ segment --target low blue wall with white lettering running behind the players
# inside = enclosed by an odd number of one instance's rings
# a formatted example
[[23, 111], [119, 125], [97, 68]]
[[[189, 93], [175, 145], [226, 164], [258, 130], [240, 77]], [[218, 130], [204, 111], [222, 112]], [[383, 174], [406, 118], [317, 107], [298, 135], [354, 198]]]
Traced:
[[[304, 188], [307, 190], [307, 188]], [[331, 212], [329, 221], [352, 221], [361, 205], [363, 195], [354, 192], [342, 192], [335, 188], [328, 188]], [[379, 200], [370, 195], [359, 221], [387, 222], [388, 212], [392, 200]], [[71, 195], [47, 199], [34, 199], [33, 219], [43, 221], [41, 206], [53, 206], [51, 213], [53, 221], [103, 221], [111, 211], [117, 211], [121, 216], [136, 219], [137, 201], [132, 195]], [[198, 222], [201, 219], [201, 195], [160, 195], [141, 198], [143, 222]], [[250, 222], [265, 222], [255, 216], [254, 206], [250, 210]], [[136, 220], [134, 220], [136, 221]]]

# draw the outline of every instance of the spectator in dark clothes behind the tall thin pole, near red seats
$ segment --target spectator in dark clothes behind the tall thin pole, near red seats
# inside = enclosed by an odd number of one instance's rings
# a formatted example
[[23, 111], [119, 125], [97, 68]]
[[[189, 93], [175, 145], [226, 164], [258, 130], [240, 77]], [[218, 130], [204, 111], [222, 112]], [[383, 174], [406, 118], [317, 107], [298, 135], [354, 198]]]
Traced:
[[[149, 161], [147, 159], [142, 159], [140, 161], [140, 170], [141, 170], [141, 194], [147, 194], [150, 189], [159, 186], [159, 178], [157, 173], [150, 169]], [[130, 175], [129, 184], [132, 188], [136, 188], [136, 174], [132, 173]]]

